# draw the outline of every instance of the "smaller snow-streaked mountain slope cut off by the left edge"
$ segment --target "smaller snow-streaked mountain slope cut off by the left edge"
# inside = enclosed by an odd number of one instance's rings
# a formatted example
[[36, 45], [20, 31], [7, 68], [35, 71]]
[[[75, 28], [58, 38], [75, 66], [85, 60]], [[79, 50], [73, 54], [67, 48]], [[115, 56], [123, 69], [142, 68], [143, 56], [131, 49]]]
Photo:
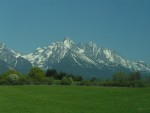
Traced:
[[[14, 52], [11, 49], [8, 49], [5, 44], [0, 42], [0, 63], [1, 63], [1, 69], [2, 70], [8, 70], [8, 69], [16, 69], [20, 72], [26, 73], [31, 69], [32, 64], [21, 57], [20, 54]], [[3, 66], [2, 66], [3, 64]], [[5, 67], [5, 68], [4, 68]], [[0, 73], [3, 73], [4, 71], [0, 71]]]

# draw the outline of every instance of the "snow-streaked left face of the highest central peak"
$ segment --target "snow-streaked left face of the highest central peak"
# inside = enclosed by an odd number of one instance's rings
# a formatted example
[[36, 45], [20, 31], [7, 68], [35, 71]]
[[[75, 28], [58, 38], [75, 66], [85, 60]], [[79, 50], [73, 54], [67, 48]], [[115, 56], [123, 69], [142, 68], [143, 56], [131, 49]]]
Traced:
[[34, 53], [24, 55], [34, 66], [49, 68], [47, 63], [59, 63], [66, 55], [71, 46], [74, 44], [71, 40], [64, 40], [64, 42], [52, 43], [48, 47], [37, 48]]

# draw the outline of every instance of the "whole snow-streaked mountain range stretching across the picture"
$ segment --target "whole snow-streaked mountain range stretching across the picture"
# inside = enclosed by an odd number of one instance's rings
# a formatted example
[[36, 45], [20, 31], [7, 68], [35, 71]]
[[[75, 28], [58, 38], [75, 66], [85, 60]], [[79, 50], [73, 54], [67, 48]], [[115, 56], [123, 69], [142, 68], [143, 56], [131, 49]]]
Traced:
[[0, 43], [0, 73], [8, 69], [27, 73], [33, 66], [44, 70], [55, 68], [86, 78], [110, 78], [117, 71], [150, 73], [150, 65], [142, 61], [129, 61], [117, 52], [92, 42], [76, 44], [65, 38], [25, 55]]

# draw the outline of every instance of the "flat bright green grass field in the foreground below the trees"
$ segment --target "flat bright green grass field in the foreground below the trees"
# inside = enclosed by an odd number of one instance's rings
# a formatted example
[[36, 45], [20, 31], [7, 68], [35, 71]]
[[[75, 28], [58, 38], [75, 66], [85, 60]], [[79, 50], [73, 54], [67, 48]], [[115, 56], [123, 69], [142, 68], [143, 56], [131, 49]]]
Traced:
[[150, 113], [150, 88], [0, 86], [0, 113]]

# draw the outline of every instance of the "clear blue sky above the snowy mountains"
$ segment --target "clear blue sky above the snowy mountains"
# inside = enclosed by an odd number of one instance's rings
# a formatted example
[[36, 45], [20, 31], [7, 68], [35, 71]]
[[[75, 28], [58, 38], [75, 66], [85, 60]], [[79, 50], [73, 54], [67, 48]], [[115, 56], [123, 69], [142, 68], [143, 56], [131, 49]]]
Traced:
[[29, 53], [65, 36], [150, 64], [150, 0], [0, 0], [9, 48]]

